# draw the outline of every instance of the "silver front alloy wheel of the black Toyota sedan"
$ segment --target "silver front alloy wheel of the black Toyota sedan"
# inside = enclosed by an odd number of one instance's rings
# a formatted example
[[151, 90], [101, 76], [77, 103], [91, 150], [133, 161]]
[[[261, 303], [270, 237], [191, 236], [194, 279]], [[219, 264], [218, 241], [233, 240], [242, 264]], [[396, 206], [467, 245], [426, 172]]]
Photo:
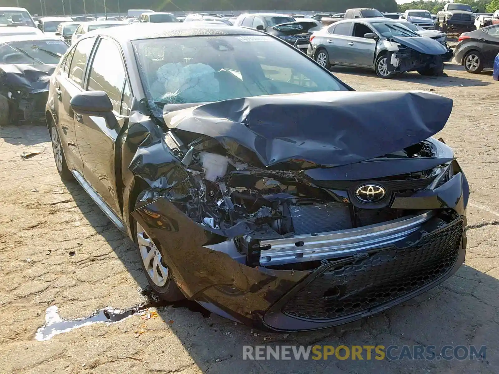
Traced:
[[138, 222], [137, 243], [149, 278], [158, 287], [163, 287], [168, 281], [168, 267], [165, 265], [158, 247]]

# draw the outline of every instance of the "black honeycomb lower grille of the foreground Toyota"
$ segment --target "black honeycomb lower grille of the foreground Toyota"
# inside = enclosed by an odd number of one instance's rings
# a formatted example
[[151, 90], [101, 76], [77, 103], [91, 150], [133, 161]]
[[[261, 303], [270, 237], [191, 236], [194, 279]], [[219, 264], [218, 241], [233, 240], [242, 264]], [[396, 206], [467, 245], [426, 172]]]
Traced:
[[329, 268], [291, 298], [282, 311], [310, 320], [368, 312], [442, 277], [455, 265], [463, 220], [407, 248], [389, 248]]

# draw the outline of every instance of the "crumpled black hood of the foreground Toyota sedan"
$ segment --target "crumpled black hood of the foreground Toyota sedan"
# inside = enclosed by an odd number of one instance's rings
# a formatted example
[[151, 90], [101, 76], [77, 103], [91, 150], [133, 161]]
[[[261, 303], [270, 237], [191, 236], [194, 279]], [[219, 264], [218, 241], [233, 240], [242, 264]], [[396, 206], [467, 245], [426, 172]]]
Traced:
[[287, 163], [275, 169], [303, 170], [353, 164], [417, 144], [442, 130], [451, 110], [451, 99], [429, 92], [340, 91], [225, 100], [163, 118], [174, 131], [216, 139], [251, 165]]

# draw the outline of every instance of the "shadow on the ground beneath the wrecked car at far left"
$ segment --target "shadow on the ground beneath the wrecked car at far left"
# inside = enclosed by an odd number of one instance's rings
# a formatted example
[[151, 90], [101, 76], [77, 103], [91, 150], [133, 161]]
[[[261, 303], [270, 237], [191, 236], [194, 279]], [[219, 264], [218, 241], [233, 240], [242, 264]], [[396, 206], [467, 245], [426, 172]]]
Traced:
[[50, 142], [45, 123], [0, 126], [0, 138], [12, 145], [35, 146]]

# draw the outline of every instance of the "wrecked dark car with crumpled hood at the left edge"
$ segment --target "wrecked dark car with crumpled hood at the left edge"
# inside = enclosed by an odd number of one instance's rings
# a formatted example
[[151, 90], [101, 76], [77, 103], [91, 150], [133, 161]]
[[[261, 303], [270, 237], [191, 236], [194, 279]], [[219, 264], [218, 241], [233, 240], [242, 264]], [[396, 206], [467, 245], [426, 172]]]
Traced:
[[0, 125], [45, 120], [50, 76], [67, 48], [53, 36], [0, 38]]

